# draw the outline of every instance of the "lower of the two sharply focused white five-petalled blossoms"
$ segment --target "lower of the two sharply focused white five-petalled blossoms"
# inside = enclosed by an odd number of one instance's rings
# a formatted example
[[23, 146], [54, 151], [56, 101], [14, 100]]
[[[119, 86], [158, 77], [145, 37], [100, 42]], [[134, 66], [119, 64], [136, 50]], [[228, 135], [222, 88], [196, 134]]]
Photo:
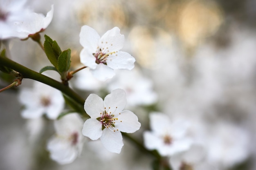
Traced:
[[101, 139], [110, 152], [120, 153], [124, 146], [121, 132], [133, 133], [141, 124], [138, 117], [126, 106], [126, 93], [122, 89], [113, 90], [103, 101], [101, 97], [90, 94], [84, 108], [91, 117], [83, 125], [83, 135], [92, 140]]

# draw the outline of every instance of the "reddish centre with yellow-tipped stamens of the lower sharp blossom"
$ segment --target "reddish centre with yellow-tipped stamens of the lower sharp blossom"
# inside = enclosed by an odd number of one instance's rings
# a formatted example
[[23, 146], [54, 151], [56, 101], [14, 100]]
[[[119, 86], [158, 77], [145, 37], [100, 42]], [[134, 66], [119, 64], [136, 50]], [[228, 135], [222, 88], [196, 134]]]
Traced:
[[[105, 108], [106, 109], [106, 108]], [[115, 128], [115, 121], [118, 120], [118, 118], [115, 118], [114, 114], [108, 113], [106, 110], [104, 110], [103, 114], [101, 114], [101, 117], [98, 117], [97, 120], [102, 123], [102, 130], [105, 128], [109, 128], [112, 131], [118, 130]]]

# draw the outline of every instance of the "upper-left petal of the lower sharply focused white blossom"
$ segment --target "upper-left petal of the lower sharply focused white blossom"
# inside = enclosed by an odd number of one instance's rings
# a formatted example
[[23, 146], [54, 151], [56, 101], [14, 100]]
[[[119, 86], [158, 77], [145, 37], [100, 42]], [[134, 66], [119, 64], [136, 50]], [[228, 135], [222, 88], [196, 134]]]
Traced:
[[100, 117], [104, 111], [103, 99], [95, 94], [90, 94], [84, 103], [85, 112], [92, 118]]

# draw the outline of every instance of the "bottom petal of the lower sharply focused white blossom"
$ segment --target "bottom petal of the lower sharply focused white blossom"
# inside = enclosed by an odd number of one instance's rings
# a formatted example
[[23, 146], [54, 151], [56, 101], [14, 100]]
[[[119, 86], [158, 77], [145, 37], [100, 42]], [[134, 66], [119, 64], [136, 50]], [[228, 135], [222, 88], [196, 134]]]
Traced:
[[111, 131], [105, 128], [102, 132], [101, 143], [110, 152], [120, 153], [124, 146], [123, 137], [120, 131]]

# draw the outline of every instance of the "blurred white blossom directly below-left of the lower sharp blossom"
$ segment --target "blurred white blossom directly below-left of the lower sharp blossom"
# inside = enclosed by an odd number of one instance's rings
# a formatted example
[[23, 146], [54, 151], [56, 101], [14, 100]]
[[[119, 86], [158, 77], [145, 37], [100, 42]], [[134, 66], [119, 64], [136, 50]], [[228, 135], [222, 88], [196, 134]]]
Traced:
[[47, 143], [50, 157], [60, 164], [72, 163], [83, 148], [83, 120], [78, 114], [70, 113], [54, 121], [54, 128], [56, 135]]

